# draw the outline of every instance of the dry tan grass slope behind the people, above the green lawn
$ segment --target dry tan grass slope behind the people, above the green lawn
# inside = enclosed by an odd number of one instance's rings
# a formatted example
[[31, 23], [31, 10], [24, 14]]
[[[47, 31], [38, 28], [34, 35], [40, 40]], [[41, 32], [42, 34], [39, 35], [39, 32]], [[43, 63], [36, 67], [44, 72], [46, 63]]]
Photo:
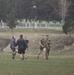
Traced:
[[[15, 30], [17, 31], [17, 30]], [[19, 29], [18, 29], [19, 31]], [[30, 33], [30, 30], [20, 30], [19, 32], [15, 32], [14, 35], [16, 37], [16, 39], [19, 38], [20, 34], [23, 34], [24, 36], [27, 36], [30, 43], [29, 43], [29, 51], [28, 51], [28, 55], [37, 55], [38, 51], [39, 51], [39, 41], [42, 37], [42, 35], [46, 35], [48, 34], [50, 37], [50, 40], [52, 41], [51, 43], [51, 50], [50, 50], [50, 56], [71, 56], [74, 54], [74, 47], [71, 45], [73, 43], [73, 38], [71, 38], [71, 40], [69, 40], [69, 37], [64, 35], [64, 34], [55, 34], [55, 33], [47, 33], [46, 31], [40, 32], [38, 33], [38, 30], [36, 30], [34, 33], [34, 30], [32, 30], [32, 32]], [[24, 32], [25, 31], [25, 32]], [[26, 33], [28, 31], [28, 33]], [[41, 30], [40, 30], [41, 31]], [[43, 31], [43, 29], [42, 29]], [[48, 31], [48, 30], [47, 30]], [[0, 33], [0, 36], [3, 38], [8, 38], [11, 39], [11, 33], [7, 33], [7, 32], [2, 32]], [[5, 43], [3, 43], [5, 44]], [[70, 44], [70, 45], [69, 45]], [[10, 52], [10, 48], [9, 45], [4, 49], [5, 52]]]

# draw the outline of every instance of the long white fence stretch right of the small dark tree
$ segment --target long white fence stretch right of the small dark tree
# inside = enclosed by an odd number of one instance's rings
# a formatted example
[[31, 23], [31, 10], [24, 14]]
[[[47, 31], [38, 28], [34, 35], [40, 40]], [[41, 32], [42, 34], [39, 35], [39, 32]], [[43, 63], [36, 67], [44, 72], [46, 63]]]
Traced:
[[56, 30], [62, 30], [62, 26], [56, 26], [56, 25], [48, 25], [48, 24], [31, 24], [31, 23], [25, 23], [25, 24], [19, 24], [16, 26], [16, 28], [47, 28], [47, 29], [56, 29]]

